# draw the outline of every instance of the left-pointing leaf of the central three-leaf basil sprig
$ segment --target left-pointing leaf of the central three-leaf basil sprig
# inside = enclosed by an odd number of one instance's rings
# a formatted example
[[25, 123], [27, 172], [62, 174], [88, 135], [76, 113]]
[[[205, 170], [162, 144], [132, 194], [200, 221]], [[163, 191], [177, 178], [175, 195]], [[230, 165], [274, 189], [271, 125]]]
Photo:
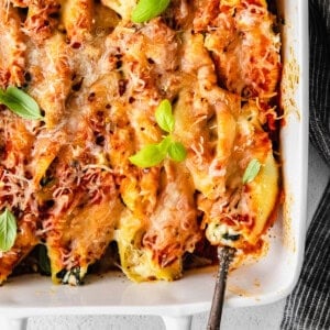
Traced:
[[129, 160], [134, 165], [145, 168], [160, 164], [165, 156], [166, 152], [160, 147], [160, 144], [148, 144]]

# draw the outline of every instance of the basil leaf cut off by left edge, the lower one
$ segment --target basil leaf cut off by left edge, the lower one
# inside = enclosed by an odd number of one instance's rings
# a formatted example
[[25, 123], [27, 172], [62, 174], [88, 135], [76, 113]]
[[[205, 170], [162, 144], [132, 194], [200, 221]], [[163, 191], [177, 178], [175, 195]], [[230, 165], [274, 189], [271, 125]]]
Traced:
[[0, 251], [9, 251], [16, 239], [16, 219], [14, 215], [6, 209], [0, 215]]

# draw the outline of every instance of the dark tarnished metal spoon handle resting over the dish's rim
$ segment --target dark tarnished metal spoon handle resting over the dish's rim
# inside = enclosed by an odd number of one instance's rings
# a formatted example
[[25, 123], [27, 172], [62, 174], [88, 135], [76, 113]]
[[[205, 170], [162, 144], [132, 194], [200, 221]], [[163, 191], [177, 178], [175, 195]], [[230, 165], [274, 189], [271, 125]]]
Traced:
[[226, 283], [229, 271], [229, 265], [235, 254], [235, 249], [230, 246], [219, 246], [219, 270], [216, 279], [216, 287], [212, 299], [212, 307], [209, 315], [209, 322], [207, 330], [219, 330], [221, 322], [221, 315], [224, 300]]

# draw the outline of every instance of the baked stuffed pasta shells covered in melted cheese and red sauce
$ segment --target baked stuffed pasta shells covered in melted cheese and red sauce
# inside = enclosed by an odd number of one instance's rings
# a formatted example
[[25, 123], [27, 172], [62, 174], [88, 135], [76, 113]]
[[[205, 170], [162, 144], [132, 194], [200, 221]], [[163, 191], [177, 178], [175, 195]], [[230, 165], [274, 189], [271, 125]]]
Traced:
[[[279, 191], [276, 16], [264, 0], [173, 0], [136, 24], [136, 2], [0, 0], [0, 88], [44, 114], [0, 105], [0, 212], [18, 222], [0, 283], [40, 244], [73, 285], [111, 242], [135, 282], [179, 278], [206, 241], [261, 246]], [[162, 141], [164, 99], [187, 157], [140, 168], [129, 157]]]

